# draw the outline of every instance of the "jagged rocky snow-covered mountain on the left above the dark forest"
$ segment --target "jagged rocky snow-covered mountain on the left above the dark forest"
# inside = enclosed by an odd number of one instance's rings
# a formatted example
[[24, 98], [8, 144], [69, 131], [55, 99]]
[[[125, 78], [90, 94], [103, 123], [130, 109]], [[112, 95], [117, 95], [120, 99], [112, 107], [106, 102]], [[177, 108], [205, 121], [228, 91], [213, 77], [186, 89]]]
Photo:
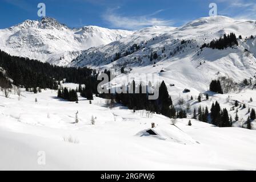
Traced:
[[67, 65], [81, 50], [106, 45], [131, 34], [132, 31], [97, 26], [71, 29], [53, 18], [42, 18], [0, 30], [0, 49], [14, 56]]

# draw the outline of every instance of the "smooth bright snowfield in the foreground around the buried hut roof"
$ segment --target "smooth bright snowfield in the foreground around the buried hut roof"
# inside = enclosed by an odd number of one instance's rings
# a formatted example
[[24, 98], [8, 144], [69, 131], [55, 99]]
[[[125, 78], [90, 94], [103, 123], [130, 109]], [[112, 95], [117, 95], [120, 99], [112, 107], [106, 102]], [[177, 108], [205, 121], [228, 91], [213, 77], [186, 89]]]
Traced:
[[[65, 86], [75, 87], [72, 84]], [[77, 85], [76, 85], [77, 86]], [[218, 128], [192, 119], [176, 126], [162, 115], [133, 113], [105, 100], [79, 104], [42, 90], [22, 97], [0, 91], [0, 169], [17, 170], [255, 170], [256, 131]], [[38, 102], [35, 103], [35, 98]], [[75, 113], [79, 123], [74, 124]], [[90, 124], [91, 115], [97, 117]], [[116, 116], [116, 119], [114, 117]], [[157, 136], [146, 130], [151, 122]], [[78, 143], [65, 142], [72, 138]], [[46, 165], [39, 165], [39, 151]]]

